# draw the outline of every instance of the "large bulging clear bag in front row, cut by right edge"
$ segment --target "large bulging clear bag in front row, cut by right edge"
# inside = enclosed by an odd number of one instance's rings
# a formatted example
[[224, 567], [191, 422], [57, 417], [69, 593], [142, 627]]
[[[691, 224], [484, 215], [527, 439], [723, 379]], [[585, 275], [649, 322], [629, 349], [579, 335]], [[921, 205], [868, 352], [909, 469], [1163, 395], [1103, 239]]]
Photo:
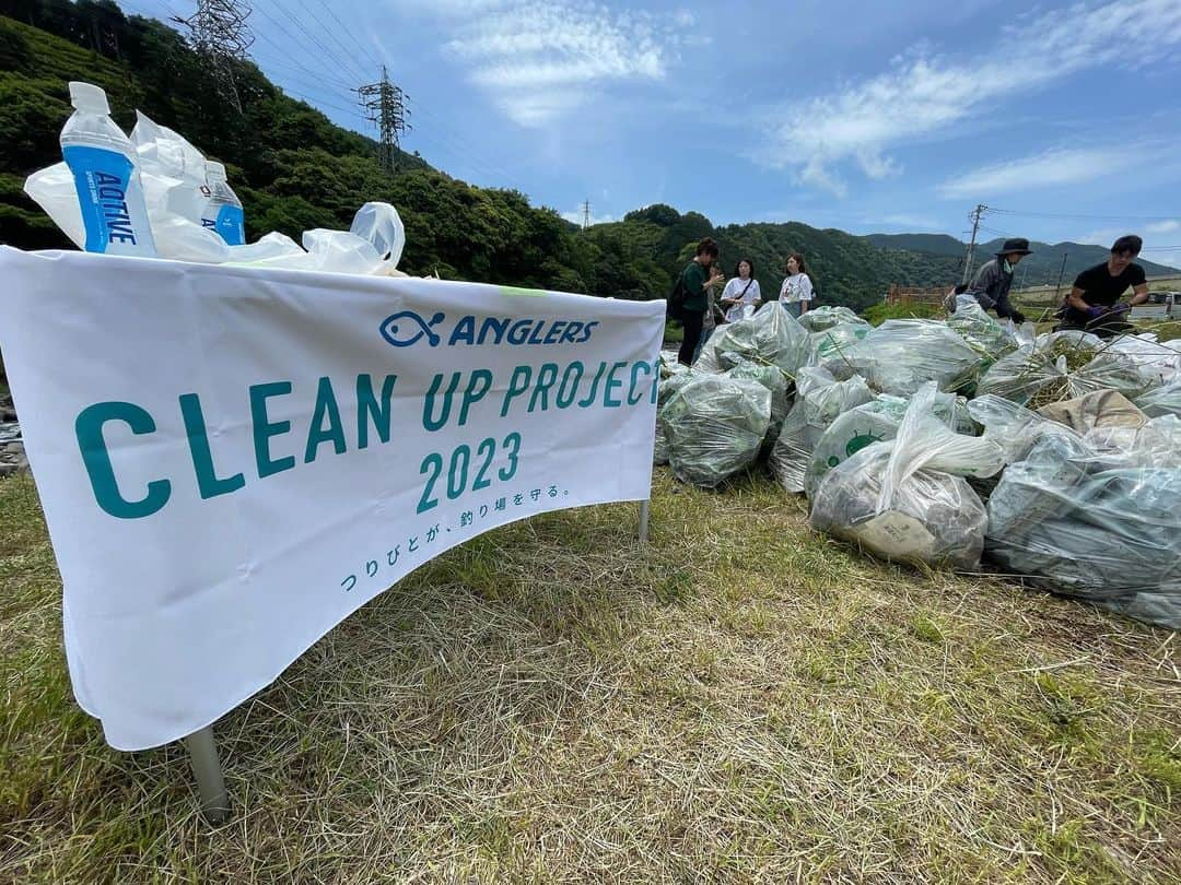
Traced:
[[1175, 422], [1043, 437], [988, 502], [990, 555], [1037, 585], [1181, 629]]

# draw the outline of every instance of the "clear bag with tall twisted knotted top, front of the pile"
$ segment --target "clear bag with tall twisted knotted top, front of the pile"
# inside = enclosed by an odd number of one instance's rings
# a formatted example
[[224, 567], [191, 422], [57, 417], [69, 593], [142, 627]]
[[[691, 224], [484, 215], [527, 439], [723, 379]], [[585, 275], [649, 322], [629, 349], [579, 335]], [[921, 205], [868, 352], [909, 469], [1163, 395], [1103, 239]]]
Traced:
[[830, 471], [813, 500], [815, 529], [887, 559], [976, 569], [987, 516], [963, 477], [991, 477], [1000, 448], [954, 433], [924, 386], [895, 439], [874, 442]]

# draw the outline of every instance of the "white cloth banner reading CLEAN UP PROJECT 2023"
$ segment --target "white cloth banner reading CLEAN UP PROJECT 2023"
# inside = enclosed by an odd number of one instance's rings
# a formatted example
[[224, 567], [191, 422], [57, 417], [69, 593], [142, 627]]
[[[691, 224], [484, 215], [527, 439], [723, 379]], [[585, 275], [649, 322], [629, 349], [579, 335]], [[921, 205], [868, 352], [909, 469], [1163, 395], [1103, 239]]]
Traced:
[[648, 497], [664, 303], [0, 249], [0, 347], [118, 749], [481, 532]]

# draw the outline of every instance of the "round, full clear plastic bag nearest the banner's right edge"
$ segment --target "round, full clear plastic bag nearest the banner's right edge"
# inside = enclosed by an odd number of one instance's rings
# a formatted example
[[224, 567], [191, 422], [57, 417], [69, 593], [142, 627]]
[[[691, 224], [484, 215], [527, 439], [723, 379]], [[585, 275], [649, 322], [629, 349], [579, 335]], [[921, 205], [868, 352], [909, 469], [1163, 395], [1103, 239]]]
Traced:
[[712, 489], [755, 463], [771, 422], [771, 392], [758, 381], [694, 372], [661, 418], [673, 476]]

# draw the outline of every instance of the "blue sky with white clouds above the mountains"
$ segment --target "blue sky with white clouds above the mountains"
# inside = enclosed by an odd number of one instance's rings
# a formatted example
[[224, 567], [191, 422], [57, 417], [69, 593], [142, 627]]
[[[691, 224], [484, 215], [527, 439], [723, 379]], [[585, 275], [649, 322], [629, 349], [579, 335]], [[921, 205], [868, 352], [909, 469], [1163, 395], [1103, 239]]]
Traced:
[[252, 5], [285, 91], [371, 132], [348, 88], [384, 63], [406, 150], [572, 219], [664, 202], [963, 237], [985, 203], [985, 238], [1135, 231], [1181, 267], [1181, 0]]

